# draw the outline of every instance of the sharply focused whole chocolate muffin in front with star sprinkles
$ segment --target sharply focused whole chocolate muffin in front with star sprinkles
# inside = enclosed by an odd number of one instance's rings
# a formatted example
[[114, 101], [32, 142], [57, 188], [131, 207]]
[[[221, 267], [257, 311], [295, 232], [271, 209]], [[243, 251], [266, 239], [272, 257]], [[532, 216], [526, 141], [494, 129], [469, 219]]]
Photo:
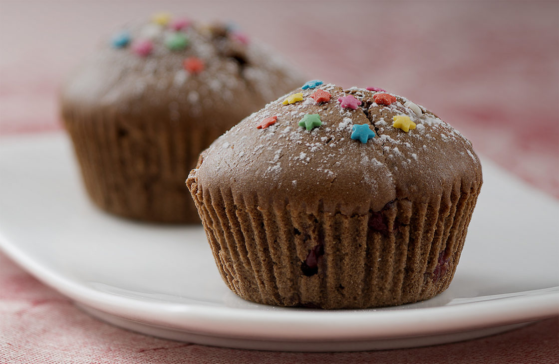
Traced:
[[235, 125], [187, 179], [233, 292], [325, 309], [446, 289], [481, 184], [471, 143], [430, 111], [319, 80]]

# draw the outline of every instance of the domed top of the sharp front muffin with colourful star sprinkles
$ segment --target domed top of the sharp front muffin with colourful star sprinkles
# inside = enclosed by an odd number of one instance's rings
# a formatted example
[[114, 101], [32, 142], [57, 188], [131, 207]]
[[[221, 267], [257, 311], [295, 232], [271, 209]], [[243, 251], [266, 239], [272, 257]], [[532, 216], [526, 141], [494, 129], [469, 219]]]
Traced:
[[259, 203], [352, 215], [477, 189], [481, 165], [471, 142], [423, 106], [314, 80], [221, 135], [189, 178]]

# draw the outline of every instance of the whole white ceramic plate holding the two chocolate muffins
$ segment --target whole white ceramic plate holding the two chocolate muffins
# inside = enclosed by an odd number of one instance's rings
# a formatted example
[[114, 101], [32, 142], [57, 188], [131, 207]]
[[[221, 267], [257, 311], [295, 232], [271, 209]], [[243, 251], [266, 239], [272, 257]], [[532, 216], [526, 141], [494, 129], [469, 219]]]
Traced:
[[201, 227], [138, 224], [87, 199], [64, 135], [0, 140], [0, 246], [121, 327], [217, 346], [345, 351], [480, 337], [559, 307], [559, 206], [484, 161], [451, 286], [400, 307], [324, 311], [247, 302], [222, 283]]

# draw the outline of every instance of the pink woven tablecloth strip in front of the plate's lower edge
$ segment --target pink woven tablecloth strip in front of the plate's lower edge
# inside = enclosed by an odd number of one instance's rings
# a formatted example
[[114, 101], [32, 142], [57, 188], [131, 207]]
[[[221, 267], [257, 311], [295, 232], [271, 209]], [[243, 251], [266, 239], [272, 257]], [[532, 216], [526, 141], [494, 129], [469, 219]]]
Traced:
[[76, 308], [4, 255], [0, 363], [542, 363], [559, 360], [559, 319], [423, 348], [349, 353], [235, 350], [129, 332]]

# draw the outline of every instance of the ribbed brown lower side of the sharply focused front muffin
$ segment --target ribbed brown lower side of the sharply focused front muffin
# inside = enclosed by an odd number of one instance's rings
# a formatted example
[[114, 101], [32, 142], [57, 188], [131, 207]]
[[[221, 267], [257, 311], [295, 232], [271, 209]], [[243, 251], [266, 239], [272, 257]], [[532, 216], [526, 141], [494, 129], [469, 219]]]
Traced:
[[347, 216], [324, 212], [322, 202], [205, 188], [192, 174], [187, 185], [233, 292], [257, 303], [325, 309], [399, 305], [445, 290], [480, 187], [457, 182], [433, 201], [402, 198]]

